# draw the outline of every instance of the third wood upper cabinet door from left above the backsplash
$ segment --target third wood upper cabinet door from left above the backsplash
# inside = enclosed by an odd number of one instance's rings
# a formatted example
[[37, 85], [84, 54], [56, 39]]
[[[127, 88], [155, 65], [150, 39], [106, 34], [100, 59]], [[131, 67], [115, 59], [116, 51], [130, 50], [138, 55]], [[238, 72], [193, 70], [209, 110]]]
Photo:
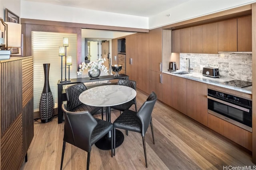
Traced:
[[203, 26], [190, 27], [190, 53], [203, 53]]

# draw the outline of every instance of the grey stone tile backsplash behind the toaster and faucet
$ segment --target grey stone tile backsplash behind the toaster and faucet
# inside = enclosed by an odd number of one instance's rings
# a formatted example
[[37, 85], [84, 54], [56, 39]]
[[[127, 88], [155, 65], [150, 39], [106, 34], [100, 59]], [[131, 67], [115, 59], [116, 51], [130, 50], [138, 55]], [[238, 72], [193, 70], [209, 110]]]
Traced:
[[193, 68], [191, 72], [202, 73], [202, 66], [217, 67], [222, 77], [252, 82], [252, 54], [180, 53], [180, 70], [188, 70], [187, 58]]

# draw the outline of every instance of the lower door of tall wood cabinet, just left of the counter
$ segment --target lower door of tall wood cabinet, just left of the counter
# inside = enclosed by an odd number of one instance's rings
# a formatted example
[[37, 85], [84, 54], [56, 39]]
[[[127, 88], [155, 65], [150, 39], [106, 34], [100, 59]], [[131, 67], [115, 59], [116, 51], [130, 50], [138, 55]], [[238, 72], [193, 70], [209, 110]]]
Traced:
[[155, 92], [157, 99], [162, 101], [162, 73], [149, 70], [149, 89], [150, 92]]

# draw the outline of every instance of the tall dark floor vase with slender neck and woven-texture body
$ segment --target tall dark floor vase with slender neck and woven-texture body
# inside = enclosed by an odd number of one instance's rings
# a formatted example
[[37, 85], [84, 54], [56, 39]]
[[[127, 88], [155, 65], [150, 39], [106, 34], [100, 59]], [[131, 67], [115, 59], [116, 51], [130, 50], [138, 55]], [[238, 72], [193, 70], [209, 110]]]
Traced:
[[49, 84], [49, 70], [50, 63], [44, 65], [44, 89], [41, 94], [39, 112], [41, 116], [41, 122], [46, 123], [52, 120], [53, 117], [53, 97]]

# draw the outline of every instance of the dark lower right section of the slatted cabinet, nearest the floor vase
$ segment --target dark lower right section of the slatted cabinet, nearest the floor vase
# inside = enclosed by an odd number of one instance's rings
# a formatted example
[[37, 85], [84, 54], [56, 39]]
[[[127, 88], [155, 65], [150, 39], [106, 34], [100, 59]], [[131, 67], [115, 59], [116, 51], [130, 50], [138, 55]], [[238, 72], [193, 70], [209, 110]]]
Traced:
[[[32, 93], [33, 94], [33, 93]], [[22, 109], [23, 156], [26, 155], [34, 137], [33, 98]]]

